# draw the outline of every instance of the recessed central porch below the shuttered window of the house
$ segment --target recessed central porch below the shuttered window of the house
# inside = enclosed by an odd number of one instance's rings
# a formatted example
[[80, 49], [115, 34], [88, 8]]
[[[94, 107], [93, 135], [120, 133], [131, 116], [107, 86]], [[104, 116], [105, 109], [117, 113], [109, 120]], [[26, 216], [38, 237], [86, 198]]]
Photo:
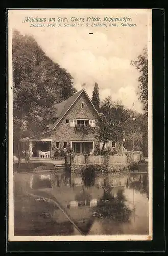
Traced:
[[92, 155], [94, 152], [94, 141], [71, 141], [71, 148], [73, 148], [77, 156], [85, 153]]

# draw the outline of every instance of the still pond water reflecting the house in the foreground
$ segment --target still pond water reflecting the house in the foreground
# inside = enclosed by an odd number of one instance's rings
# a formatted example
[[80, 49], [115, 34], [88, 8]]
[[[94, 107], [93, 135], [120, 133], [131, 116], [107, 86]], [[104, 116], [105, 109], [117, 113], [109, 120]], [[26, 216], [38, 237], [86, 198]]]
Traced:
[[14, 174], [14, 234], [148, 234], [148, 173]]

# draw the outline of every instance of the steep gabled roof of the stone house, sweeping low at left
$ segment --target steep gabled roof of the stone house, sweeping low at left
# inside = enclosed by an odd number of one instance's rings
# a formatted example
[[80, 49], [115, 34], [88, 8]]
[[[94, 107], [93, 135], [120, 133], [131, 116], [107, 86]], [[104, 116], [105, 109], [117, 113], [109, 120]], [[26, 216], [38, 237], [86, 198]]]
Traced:
[[[37, 134], [37, 135], [35, 135], [35, 136], [31, 137], [31, 138], [26, 138], [25, 140], [32, 139], [32, 138], [37, 137], [39, 135], [43, 135], [45, 133], [51, 132], [59, 124], [59, 122], [62, 120], [62, 118], [65, 116], [65, 114], [70, 110], [70, 108], [74, 105], [74, 103], [79, 98], [79, 96], [82, 94], [82, 92], [84, 92], [86, 94], [88, 100], [90, 101], [91, 105], [93, 106], [93, 109], [98, 114], [98, 116], [100, 116], [98, 111], [97, 111], [97, 109], [95, 109], [95, 106], [93, 105], [91, 99], [89, 98], [88, 94], [86, 93], [85, 89], [82, 89], [79, 92], [75, 93], [73, 96], [69, 97], [66, 101], [64, 101], [65, 105], [64, 105], [64, 108], [63, 108], [62, 112], [60, 113], [59, 118], [55, 121], [55, 123], [53, 123], [50, 126], [49, 130], [47, 130], [45, 132], [42, 132], [40, 134]], [[22, 139], [22, 141], [23, 141], [23, 139]]]

